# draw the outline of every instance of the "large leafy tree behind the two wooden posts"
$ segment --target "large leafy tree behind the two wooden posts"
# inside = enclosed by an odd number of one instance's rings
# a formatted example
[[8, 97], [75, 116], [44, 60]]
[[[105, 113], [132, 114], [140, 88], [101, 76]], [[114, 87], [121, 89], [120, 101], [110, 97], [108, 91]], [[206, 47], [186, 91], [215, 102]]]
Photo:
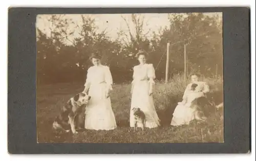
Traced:
[[[170, 72], [184, 70], [184, 44], [187, 44], [189, 71], [205, 75], [215, 73], [216, 62], [222, 63], [222, 33], [216, 17], [202, 13], [172, 13], [169, 22], [169, 28], [163, 29], [159, 37], [155, 35], [152, 41], [153, 48], [160, 52], [165, 51], [167, 42], [170, 43]], [[164, 65], [162, 63], [159, 68], [163, 70]]]

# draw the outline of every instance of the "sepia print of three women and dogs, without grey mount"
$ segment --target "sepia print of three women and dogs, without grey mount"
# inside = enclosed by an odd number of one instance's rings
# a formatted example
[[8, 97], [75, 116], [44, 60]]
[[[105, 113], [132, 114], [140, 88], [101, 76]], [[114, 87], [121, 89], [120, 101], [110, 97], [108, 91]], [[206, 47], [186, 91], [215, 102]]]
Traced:
[[224, 143], [222, 12], [35, 26], [37, 143]]

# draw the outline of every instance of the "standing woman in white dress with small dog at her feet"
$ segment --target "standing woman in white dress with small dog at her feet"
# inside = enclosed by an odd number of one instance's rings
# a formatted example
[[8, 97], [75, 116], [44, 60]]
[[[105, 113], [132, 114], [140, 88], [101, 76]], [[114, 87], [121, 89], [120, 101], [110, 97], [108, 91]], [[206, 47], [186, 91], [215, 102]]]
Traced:
[[[146, 63], [146, 54], [139, 52], [136, 54], [140, 64], [134, 66], [133, 82], [132, 82], [132, 102], [130, 110], [130, 126], [134, 127], [134, 116], [132, 109], [134, 107], [140, 108], [145, 114], [145, 127], [158, 127], [159, 118], [153, 101], [153, 85], [155, 84], [155, 69], [153, 64]], [[142, 127], [138, 123], [138, 127]]]

